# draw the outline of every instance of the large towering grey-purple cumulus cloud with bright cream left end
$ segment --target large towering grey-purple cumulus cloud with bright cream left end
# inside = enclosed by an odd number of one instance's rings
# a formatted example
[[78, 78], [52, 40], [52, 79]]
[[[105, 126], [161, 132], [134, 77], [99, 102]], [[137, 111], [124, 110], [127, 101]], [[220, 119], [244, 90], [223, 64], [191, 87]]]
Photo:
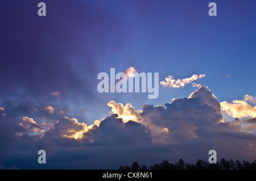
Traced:
[[[193, 92], [189, 99], [174, 99], [165, 106], [143, 105], [142, 110], [135, 110], [131, 104], [123, 106], [113, 100], [108, 103], [112, 113], [116, 113], [123, 121], [133, 120], [144, 125], [152, 136], [152, 141], [157, 144], [170, 144], [177, 142], [176, 134], [183, 134], [187, 138], [197, 138], [197, 122], [204, 120], [204, 124], [219, 123], [222, 120], [220, 103], [210, 92], [208, 87], [201, 87]], [[184, 107], [190, 108], [184, 110]], [[207, 123], [207, 120], [210, 120]], [[204, 125], [203, 124], [203, 125]]]

